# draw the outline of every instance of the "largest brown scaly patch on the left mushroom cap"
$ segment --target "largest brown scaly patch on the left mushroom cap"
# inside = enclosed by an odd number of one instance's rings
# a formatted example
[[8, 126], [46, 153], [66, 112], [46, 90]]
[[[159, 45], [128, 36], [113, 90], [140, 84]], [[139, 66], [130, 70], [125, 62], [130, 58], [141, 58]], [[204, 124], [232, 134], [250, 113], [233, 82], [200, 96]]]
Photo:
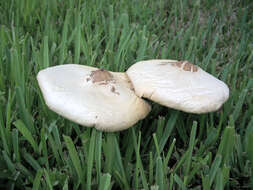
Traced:
[[93, 83], [103, 82], [103, 84], [108, 84], [109, 81], [113, 81], [112, 74], [104, 69], [98, 69], [96, 71], [91, 71], [90, 77]]

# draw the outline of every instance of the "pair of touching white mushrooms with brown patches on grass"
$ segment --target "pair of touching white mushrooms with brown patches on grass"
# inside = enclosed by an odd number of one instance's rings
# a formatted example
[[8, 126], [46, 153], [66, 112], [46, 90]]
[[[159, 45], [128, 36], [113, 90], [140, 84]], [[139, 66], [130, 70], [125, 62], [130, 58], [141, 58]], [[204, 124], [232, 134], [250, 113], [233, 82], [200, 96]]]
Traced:
[[67, 64], [44, 69], [37, 79], [51, 110], [103, 131], [145, 118], [151, 108], [141, 97], [190, 113], [216, 111], [229, 97], [225, 83], [188, 61], [140, 61], [126, 73]]

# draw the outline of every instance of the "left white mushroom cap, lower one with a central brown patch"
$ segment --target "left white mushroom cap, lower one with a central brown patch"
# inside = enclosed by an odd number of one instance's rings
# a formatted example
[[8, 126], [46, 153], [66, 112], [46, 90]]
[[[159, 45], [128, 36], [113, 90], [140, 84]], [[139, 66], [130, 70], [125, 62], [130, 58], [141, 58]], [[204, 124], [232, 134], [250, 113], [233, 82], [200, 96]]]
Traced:
[[150, 111], [125, 73], [69, 64], [42, 70], [37, 79], [51, 110], [87, 127], [123, 130]]

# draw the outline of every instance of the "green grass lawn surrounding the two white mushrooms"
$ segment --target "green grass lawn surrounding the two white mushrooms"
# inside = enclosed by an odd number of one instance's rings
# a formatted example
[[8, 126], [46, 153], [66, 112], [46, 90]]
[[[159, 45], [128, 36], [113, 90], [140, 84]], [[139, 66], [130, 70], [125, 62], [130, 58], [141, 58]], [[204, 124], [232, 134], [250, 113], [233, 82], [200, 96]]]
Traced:
[[[252, 18], [250, 0], [0, 1], [0, 188], [252, 188]], [[134, 127], [105, 133], [51, 112], [35, 78], [154, 58], [199, 65], [229, 100], [202, 115], [153, 103]]]

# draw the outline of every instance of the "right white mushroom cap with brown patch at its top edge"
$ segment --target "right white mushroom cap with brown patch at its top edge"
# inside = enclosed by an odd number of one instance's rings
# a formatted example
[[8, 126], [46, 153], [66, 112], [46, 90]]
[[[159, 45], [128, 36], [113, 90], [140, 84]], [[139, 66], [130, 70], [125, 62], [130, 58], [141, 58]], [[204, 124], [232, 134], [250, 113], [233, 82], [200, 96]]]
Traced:
[[140, 61], [127, 70], [136, 95], [190, 113], [218, 110], [227, 85], [188, 61]]

